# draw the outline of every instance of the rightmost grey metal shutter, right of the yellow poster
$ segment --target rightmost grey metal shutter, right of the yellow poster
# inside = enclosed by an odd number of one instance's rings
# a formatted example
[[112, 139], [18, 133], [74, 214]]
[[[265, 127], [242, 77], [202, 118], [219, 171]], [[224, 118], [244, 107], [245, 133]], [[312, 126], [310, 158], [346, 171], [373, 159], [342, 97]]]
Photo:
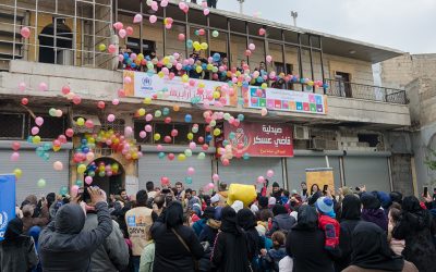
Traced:
[[366, 189], [390, 191], [388, 159], [386, 157], [344, 157], [346, 185], [366, 185]]

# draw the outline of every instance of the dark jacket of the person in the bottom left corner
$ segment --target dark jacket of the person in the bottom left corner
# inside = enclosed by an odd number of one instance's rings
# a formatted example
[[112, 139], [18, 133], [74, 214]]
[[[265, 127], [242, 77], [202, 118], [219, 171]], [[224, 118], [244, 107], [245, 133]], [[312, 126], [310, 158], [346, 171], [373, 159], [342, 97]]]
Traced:
[[34, 239], [21, 235], [13, 240], [0, 242], [0, 271], [25, 272], [38, 263]]

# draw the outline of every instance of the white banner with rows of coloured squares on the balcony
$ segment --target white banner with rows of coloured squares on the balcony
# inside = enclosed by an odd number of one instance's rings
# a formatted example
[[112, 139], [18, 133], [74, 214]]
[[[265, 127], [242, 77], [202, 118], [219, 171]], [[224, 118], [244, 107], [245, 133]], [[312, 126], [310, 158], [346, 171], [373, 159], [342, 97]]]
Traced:
[[[261, 96], [262, 94], [262, 96]], [[250, 86], [244, 91], [246, 108], [293, 111], [302, 113], [326, 114], [327, 98], [324, 95]]]

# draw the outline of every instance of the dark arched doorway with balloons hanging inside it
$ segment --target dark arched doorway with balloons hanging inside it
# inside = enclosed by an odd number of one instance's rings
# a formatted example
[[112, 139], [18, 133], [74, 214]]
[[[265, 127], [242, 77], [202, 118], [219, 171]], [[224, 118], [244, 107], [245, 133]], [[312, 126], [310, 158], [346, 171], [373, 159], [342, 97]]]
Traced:
[[99, 158], [87, 166], [85, 177], [92, 176], [90, 186], [98, 186], [108, 195], [118, 195], [125, 184], [123, 166], [112, 158]]

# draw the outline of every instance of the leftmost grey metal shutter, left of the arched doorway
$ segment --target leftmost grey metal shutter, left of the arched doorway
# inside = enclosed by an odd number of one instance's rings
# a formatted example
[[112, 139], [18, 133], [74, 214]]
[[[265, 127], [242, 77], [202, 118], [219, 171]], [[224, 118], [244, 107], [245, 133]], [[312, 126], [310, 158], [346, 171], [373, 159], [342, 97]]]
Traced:
[[[48, 193], [59, 194], [62, 186], [69, 186], [69, 150], [50, 151], [50, 160], [39, 158], [34, 150], [20, 150], [20, 160], [11, 162], [11, 150], [0, 150], [0, 173], [13, 173], [14, 169], [21, 169], [23, 175], [16, 181], [16, 203], [21, 202], [28, 195], [36, 195], [38, 198]], [[62, 171], [53, 170], [53, 162], [60, 161], [63, 164]], [[46, 187], [39, 188], [39, 178], [46, 180]]]

